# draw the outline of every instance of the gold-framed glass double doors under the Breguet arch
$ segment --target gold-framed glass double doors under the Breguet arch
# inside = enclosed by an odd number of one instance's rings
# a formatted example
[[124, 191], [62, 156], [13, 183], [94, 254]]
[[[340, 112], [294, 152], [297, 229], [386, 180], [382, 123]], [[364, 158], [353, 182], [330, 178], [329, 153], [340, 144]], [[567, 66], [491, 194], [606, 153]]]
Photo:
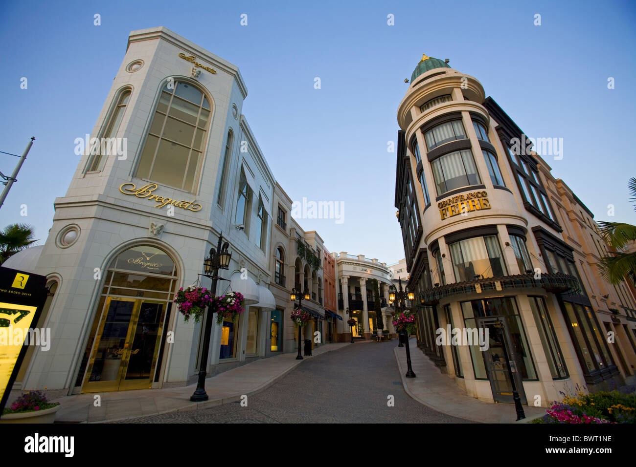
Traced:
[[165, 302], [108, 297], [82, 392], [151, 388], [164, 318]]

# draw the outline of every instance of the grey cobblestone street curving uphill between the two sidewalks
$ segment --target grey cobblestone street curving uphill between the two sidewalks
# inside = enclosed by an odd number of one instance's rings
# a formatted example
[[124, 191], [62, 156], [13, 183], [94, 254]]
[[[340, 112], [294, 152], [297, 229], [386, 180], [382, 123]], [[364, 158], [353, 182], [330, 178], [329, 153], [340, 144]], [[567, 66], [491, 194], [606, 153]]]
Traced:
[[[306, 357], [306, 362], [270, 388], [250, 396], [247, 407], [235, 402], [118, 423], [471, 423], [429, 409], [406, 395], [395, 346], [397, 341], [356, 342]], [[387, 405], [389, 395], [394, 396], [394, 407]]]

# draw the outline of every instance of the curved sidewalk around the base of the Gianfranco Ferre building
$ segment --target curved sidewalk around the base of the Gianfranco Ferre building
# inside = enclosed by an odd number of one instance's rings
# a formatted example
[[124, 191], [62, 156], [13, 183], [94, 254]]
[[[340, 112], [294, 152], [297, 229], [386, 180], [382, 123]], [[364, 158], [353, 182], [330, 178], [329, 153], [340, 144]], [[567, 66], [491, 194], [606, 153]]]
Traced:
[[[488, 403], [466, 395], [466, 392], [452, 378], [441, 374], [427, 356], [417, 348], [415, 339], [409, 340], [411, 367], [417, 377], [407, 378], [406, 348], [394, 349], [397, 366], [402, 377], [404, 391], [417, 402], [446, 415], [480, 423], [515, 423], [515, 405], [508, 403]], [[546, 414], [545, 407], [523, 405], [526, 419], [534, 419]], [[522, 423], [520, 421], [519, 423]]]

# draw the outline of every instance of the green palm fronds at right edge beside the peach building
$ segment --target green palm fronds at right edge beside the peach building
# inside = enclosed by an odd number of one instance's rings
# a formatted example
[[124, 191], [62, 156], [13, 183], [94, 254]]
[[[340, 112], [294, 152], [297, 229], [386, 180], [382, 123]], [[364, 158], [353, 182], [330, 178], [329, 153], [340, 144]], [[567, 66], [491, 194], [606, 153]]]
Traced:
[[[630, 179], [628, 188], [630, 201], [635, 203], [636, 210], [636, 178]], [[598, 222], [598, 226], [605, 243], [615, 250], [608, 252], [611, 256], [600, 259], [598, 269], [601, 275], [614, 285], [625, 281], [625, 278], [636, 283], [636, 252], [623, 251], [628, 243], [636, 241], [636, 226], [624, 222]]]

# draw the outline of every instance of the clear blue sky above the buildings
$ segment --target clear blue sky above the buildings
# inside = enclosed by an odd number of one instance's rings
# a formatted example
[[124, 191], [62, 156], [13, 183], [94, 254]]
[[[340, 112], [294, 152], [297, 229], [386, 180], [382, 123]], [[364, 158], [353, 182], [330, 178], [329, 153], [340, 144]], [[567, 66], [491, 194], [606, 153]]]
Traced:
[[[294, 201], [343, 203], [342, 222], [297, 219], [330, 251], [387, 264], [404, 257], [389, 142], [397, 140], [404, 78], [422, 53], [477, 78], [527, 135], [562, 138], [562, 158], [544, 159], [596, 220], [636, 224], [627, 189], [636, 176], [635, 5], [6, 2], [0, 151], [22, 154], [36, 141], [0, 208], [0, 228], [31, 224], [45, 243], [53, 202], [79, 161], [74, 140], [92, 131], [128, 34], [157, 26], [239, 67], [248, 90], [242, 111], [275, 179]], [[0, 154], [0, 171], [10, 175], [17, 161]]]

